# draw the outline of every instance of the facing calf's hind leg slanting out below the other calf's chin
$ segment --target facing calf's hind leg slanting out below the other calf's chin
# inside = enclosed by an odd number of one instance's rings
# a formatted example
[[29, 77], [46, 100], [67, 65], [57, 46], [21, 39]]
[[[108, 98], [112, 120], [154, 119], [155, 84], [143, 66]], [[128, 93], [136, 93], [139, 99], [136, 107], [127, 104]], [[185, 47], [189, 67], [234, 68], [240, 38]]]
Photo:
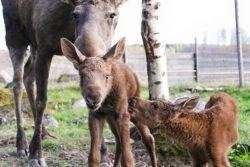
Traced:
[[142, 142], [146, 146], [146, 149], [150, 155], [152, 167], [157, 167], [157, 158], [156, 158], [156, 150], [155, 150], [155, 140], [153, 135], [151, 134], [149, 128], [139, 122], [134, 121], [135, 126], [138, 128]]

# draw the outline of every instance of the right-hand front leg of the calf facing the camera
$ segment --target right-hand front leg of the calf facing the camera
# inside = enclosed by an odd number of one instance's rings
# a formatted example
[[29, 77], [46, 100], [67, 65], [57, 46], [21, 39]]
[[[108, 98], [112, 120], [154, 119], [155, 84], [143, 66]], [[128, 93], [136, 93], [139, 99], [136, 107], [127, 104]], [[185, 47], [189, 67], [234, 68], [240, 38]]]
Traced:
[[123, 167], [133, 167], [134, 159], [132, 155], [132, 149], [130, 144], [130, 133], [129, 133], [129, 123], [130, 123], [130, 114], [127, 110], [127, 98], [119, 100], [118, 104], [118, 119], [117, 124], [119, 126], [119, 132], [121, 137], [121, 146], [122, 146], [122, 166]]

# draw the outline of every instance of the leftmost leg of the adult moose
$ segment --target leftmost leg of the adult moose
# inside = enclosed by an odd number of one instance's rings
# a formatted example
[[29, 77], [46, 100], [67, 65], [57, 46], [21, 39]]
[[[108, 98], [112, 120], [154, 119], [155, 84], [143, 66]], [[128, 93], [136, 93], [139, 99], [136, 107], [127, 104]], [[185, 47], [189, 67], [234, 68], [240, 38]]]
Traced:
[[[8, 42], [7, 42], [8, 45]], [[15, 101], [15, 114], [16, 114], [16, 124], [17, 124], [17, 134], [16, 134], [16, 147], [17, 147], [17, 155], [25, 156], [27, 155], [27, 142], [25, 137], [25, 132], [23, 129], [23, 116], [22, 116], [22, 94], [23, 94], [23, 62], [24, 62], [24, 54], [26, 51], [26, 47], [10, 47], [9, 53], [10, 58], [13, 64], [14, 70], [14, 101]]]

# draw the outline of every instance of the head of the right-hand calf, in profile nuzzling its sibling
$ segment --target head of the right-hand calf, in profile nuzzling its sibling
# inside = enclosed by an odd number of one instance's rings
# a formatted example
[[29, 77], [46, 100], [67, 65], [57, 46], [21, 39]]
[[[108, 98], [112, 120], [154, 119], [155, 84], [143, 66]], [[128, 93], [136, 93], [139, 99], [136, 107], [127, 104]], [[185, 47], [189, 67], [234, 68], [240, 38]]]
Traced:
[[155, 127], [167, 122], [183, 111], [195, 108], [199, 97], [181, 98], [174, 103], [167, 100], [142, 100], [134, 97], [129, 100], [129, 111], [132, 117], [144, 124]]

